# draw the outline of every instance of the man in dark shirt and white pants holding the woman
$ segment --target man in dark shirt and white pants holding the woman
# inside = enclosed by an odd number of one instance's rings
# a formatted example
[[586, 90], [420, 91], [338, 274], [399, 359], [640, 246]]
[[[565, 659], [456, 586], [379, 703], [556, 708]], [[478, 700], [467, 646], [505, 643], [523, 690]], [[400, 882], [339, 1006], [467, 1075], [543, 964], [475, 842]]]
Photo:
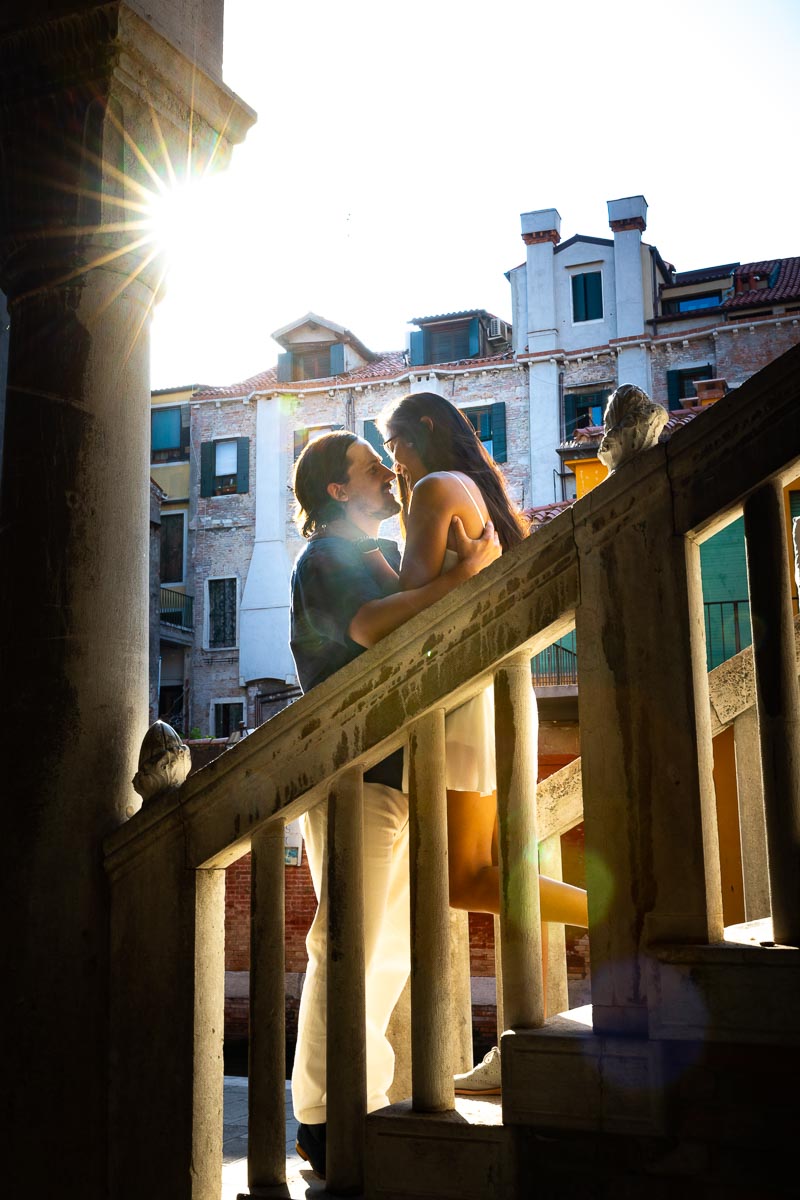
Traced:
[[[353, 433], [327, 433], [297, 460], [294, 491], [308, 539], [291, 577], [291, 653], [303, 691], [321, 683], [403, 622], [422, 612], [498, 558], [491, 524], [471, 541], [457, 522], [459, 562], [446, 575], [410, 592], [397, 590], [399, 551], [378, 539], [399, 511], [395, 473]], [[390, 570], [389, 568], [392, 568]], [[365, 967], [367, 1110], [389, 1104], [395, 1056], [386, 1027], [409, 973], [408, 797], [403, 752], [363, 776]], [[326, 811], [302, 818], [318, 908], [307, 938], [308, 970], [300, 1002], [291, 1090], [299, 1121], [297, 1152], [325, 1175], [326, 1122]]]

